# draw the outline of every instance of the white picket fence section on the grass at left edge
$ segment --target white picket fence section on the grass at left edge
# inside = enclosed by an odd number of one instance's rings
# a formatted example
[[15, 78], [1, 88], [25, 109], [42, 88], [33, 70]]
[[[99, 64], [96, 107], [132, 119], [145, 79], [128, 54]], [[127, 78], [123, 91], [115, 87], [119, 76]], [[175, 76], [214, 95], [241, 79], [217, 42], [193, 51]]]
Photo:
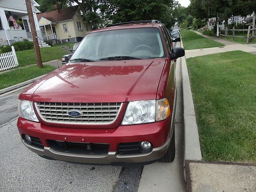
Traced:
[[18, 59], [14, 47], [12, 51], [0, 54], [0, 71], [5, 71], [18, 66]]

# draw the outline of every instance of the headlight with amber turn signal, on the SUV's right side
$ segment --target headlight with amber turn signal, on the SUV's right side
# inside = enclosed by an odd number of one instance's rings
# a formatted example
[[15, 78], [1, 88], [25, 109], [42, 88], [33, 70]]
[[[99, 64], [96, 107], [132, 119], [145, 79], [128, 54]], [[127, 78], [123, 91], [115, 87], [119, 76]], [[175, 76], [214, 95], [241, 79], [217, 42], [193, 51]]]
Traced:
[[160, 100], [145, 100], [129, 102], [122, 124], [140, 124], [161, 121], [170, 115], [169, 102], [166, 98]]

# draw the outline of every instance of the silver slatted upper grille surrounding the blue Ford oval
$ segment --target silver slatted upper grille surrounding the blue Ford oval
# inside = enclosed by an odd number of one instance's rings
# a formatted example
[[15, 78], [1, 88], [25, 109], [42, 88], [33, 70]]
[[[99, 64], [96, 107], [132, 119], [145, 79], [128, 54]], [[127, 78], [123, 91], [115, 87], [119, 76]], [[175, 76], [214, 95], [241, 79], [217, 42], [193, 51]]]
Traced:
[[[40, 117], [47, 122], [72, 124], [110, 124], [114, 122], [122, 103], [59, 103], [36, 102]], [[82, 112], [80, 117], [71, 117], [70, 110]]]

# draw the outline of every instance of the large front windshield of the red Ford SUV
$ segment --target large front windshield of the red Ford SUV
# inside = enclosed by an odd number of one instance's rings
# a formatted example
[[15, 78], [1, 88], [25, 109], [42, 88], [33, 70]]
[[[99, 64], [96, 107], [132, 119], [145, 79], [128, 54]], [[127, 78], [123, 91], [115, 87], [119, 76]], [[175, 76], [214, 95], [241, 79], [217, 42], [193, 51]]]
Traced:
[[164, 55], [159, 30], [137, 28], [90, 33], [70, 60], [147, 59]]

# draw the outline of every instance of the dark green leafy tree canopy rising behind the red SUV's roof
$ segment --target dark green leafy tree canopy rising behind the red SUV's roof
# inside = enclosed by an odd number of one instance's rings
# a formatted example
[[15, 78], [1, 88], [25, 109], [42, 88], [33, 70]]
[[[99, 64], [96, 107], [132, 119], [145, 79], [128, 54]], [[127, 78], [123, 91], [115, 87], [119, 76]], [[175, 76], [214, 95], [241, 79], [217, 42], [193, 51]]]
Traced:
[[37, 0], [41, 12], [54, 10], [54, 5], [63, 8], [79, 5], [84, 20], [93, 29], [107, 23], [132, 20], [157, 19], [170, 28], [175, 22], [186, 18], [186, 8], [177, 0]]

